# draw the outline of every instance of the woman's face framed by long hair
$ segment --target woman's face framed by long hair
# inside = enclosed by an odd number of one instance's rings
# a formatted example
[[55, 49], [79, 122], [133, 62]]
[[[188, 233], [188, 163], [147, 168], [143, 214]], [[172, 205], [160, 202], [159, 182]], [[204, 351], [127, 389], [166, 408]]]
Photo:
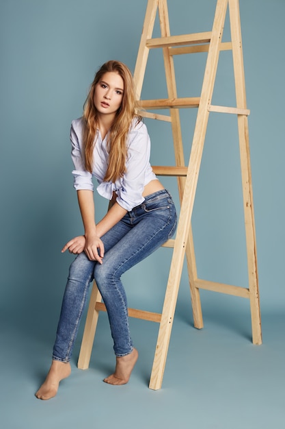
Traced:
[[113, 115], [122, 104], [124, 81], [119, 73], [108, 71], [105, 73], [94, 90], [94, 105], [100, 115]]

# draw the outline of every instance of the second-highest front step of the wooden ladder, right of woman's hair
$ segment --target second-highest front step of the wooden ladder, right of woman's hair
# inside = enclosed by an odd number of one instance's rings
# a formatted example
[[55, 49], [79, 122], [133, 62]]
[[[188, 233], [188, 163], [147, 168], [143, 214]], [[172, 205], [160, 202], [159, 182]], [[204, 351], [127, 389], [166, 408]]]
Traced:
[[165, 98], [154, 100], [139, 100], [136, 102], [138, 108], [143, 109], [169, 109], [169, 108], [198, 108], [200, 97], [187, 98]]

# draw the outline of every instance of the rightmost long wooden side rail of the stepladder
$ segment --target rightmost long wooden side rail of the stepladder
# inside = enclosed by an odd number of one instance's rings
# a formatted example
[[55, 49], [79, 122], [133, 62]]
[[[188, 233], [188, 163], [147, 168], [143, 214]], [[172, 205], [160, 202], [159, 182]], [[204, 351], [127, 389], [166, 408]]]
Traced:
[[[246, 109], [245, 75], [239, 0], [229, 0], [230, 29], [232, 33], [232, 56], [236, 86], [236, 106]], [[249, 131], [247, 116], [238, 115], [239, 145], [241, 153], [241, 177], [243, 184], [243, 207], [245, 216], [245, 237], [247, 246], [247, 268], [249, 275], [249, 302], [252, 313], [252, 341], [262, 343], [260, 299], [258, 291], [258, 267], [256, 253], [256, 230], [254, 222], [254, 201], [252, 193], [252, 172], [249, 153]]]

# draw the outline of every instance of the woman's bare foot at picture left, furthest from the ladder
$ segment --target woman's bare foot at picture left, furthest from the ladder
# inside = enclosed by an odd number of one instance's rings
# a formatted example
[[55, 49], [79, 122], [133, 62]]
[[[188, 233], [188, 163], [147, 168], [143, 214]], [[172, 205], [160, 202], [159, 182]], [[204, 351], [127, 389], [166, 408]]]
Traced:
[[51, 397], [57, 394], [59, 382], [70, 376], [70, 373], [70, 363], [53, 360], [46, 380], [44, 380], [44, 383], [40, 389], [38, 389], [36, 397], [38, 397], [39, 400], [50, 400]]

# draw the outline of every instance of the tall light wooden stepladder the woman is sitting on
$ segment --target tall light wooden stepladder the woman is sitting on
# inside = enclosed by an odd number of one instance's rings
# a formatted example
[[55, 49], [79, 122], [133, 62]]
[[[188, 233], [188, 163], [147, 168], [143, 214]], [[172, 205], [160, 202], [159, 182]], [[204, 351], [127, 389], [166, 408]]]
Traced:
[[[157, 10], [159, 11], [161, 37], [152, 38]], [[230, 16], [231, 42], [222, 42], [223, 27], [227, 10], [229, 10]], [[146, 65], [148, 62], [149, 50], [158, 48], [163, 49], [168, 98], [139, 101], [146, 72]], [[211, 104], [219, 52], [223, 50], [232, 50], [234, 82], [236, 89], [236, 107], [213, 106]], [[174, 73], [174, 56], [197, 52], [208, 52], [201, 95], [200, 97], [194, 98], [178, 98]], [[213, 29], [211, 32], [184, 34], [180, 36], [170, 35], [167, 0], [148, 0], [144, 28], [141, 34], [141, 42], [135, 66], [134, 79], [137, 88], [137, 109], [139, 114], [147, 118], [169, 121], [172, 123], [176, 166], [153, 167], [153, 169], [157, 175], [177, 176], [181, 204], [176, 238], [175, 240], [167, 241], [164, 245], [165, 247], [173, 247], [173, 254], [162, 313], [158, 314], [133, 308], [128, 309], [130, 317], [137, 317], [139, 319], [157, 321], [160, 323], [157, 347], [155, 350], [149, 384], [150, 389], [157, 390], [161, 388], [163, 380], [185, 254], [187, 257], [195, 328], [203, 328], [200, 289], [245, 297], [248, 298], [250, 302], [252, 316], [252, 341], [254, 344], [262, 343], [252, 177], [249, 159], [249, 134], [247, 123], [249, 110], [247, 110], [245, 97], [239, 0], [217, 0]], [[188, 167], [185, 166], [184, 151], [182, 147], [179, 117], [180, 108], [198, 108]], [[169, 109], [169, 115], [149, 112], [149, 110], [161, 109]], [[197, 275], [193, 235], [191, 230], [191, 216], [210, 112], [223, 112], [236, 114], [237, 116], [247, 247], [248, 288], [202, 280], [199, 279]], [[85, 330], [83, 333], [81, 351], [79, 354], [78, 367], [81, 369], [87, 369], [87, 367], [89, 367], [98, 313], [100, 310], [105, 310], [105, 305], [101, 302], [100, 293], [98, 292], [96, 283], [94, 282], [90, 298], [90, 306], [87, 312]]]

